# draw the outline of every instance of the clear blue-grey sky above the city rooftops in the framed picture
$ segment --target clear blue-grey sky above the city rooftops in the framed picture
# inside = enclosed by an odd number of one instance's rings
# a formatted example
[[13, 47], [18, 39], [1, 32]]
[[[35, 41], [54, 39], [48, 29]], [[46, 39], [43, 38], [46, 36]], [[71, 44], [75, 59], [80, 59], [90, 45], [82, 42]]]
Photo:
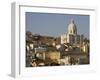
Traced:
[[26, 12], [26, 31], [57, 37], [67, 33], [68, 24], [72, 19], [78, 34], [89, 38], [89, 15]]

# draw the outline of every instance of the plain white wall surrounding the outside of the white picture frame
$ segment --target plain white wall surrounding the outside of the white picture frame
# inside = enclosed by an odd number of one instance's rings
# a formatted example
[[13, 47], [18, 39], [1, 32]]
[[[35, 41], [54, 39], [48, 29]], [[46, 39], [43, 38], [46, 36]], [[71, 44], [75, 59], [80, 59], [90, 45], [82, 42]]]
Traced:
[[[32, 1], [34, 4], [47, 4], [47, 5], [78, 5], [78, 6], [94, 6], [97, 9], [97, 21], [96, 21], [96, 42], [94, 46], [96, 47], [97, 56], [97, 72], [96, 73], [71, 73], [64, 74], [61, 76], [45, 76], [40, 75], [40, 77], [33, 78], [21, 78], [22, 80], [99, 80], [100, 74], [100, 0], [1, 0], [0, 1], [0, 80], [14, 80], [10, 77], [11, 70], [11, 2], [13, 1]], [[98, 44], [98, 45], [97, 45]], [[21, 80], [17, 79], [17, 80]]]

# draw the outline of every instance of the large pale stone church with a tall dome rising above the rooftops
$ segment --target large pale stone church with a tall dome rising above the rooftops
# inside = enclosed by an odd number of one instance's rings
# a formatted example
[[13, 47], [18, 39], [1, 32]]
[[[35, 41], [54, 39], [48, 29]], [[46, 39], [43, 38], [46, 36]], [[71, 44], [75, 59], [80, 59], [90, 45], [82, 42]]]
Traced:
[[68, 31], [61, 35], [61, 44], [70, 43], [71, 45], [80, 45], [83, 42], [83, 35], [77, 33], [77, 26], [74, 20], [68, 25]]

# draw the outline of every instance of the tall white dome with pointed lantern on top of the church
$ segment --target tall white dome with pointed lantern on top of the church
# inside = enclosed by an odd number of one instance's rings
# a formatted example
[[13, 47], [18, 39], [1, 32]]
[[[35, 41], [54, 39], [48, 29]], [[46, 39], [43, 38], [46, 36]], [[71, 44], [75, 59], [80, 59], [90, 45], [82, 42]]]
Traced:
[[68, 25], [68, 34], [77, 34], [77, 28], [74, 20], [71, 20], [71, 23]]

